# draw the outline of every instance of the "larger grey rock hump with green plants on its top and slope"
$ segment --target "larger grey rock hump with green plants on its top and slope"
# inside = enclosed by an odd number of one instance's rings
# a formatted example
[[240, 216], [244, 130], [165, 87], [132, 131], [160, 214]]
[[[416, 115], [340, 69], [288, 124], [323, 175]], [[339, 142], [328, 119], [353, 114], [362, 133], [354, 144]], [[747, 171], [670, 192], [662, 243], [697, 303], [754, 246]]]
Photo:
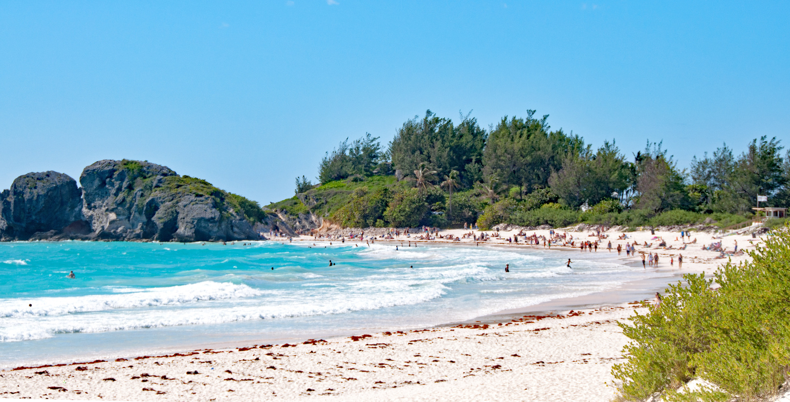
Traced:
[[258, 239], [230, 194], [154, 163], [100, 160], [80, 176], [92, 237], [198, 242]]

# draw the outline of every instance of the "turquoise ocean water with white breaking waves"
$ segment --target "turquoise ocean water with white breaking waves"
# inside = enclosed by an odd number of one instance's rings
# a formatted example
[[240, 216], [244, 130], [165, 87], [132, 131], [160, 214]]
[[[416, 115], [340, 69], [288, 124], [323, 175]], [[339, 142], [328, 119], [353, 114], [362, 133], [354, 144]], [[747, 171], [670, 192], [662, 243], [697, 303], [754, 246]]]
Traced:
[[0, 367], [441, 325], [653, 275], [605, 252], [242, 244], [0, 243]]

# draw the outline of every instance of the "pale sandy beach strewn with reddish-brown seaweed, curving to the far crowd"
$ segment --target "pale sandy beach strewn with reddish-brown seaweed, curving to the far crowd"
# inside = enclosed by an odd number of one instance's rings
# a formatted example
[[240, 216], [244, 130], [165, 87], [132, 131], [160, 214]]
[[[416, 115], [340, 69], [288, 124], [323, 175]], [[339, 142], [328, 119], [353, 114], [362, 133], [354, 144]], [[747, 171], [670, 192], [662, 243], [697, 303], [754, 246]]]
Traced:
[[[461, 235], [468, 231], [442, 231]], [[547, 235], [547, 231], [531, 231]], [[558, 231], [562, 233], [563, 231]], [[490, 232], [489, 232], [490, 233]], [[515, 232], [499, 232], [507, 239]], [[592, 240], [587, 233], [568, 232], [574, 239]], [[619, 234], [608, 234], [600, 253], [612, 261], [641, 265], [640, 257], [619, 257], [606, 244], [623, 244]], [[40, 368], [0, 371], [0, 397], [73, 400], [609, 400], [614, 390], [611, 365], [622, 359], [626, 338], [617, 321], [634, 314], [634, 300], [647, 299], [654, 291], [676, 282], [683, 273], [712, 272], [724, 259], [701, 250], [703, 244], [720, 241], [713, 234], [694, 232], [695, 244], [686, 250], [675, 240], [679, 234], [631, 232], [628, 242], [653, 242], [638, 251], [661, 256], [657, 271], [662, 276], [623, 284], [615, 289], [570, 299], [556, 299], [521, 309], [503, 310], [459, 325], [398, 332], [367, 332], [336, 336], [322, 342], [293, 340], [261, 347], [224, 344], [213, 350], [156, 355], [153, 358], [107, 359], [109, 362], [48, 365]], [[653, 237], [667, 241], [671, 250], [656, 247]], [[753, 249], [751, 235], [731, 235], [722, 246]], [[404, 242], [413, 239], [404, 239]], [[328, 242], [303, 237], [295, 242]], [[348, 242], [348, 240], [347, 240]], [[378, 242], [378, 241], [377, 241]], [[418, 241], [424, 244], [428, 241]], [[387, 243], [400, 244], [401, 240]], [[462, 242], [431, 244], [472, 246]], [[756, 242], [755, 242], [756, 243]], [[486, 246], [510, 246], [504, 241]], [[481, 246], [483, 246], [481, 244]], [[552, 246], [552, 250], [573, 251]], [[574, 249], [583, 259], [585, 254]], [[748, 250], [748, 249], [747, 249]], [[595, 252], [593, 252], [595, 253]], [[669, 265], [682, 253], [683, 269]], [[573, 256], [571, 256], [573, 257]], [[746, 256], [732, 257], [737, 263]], [[517, 269], [517, 267], [516, 267]], [[648, 269], [646, 269], [648, 270]], [[652, 270], [656, 272], [656, 270]], [[584, 308], [586, 307], [586, 308]], [[584, 314], [569, 314], [569, 310]], [[637, 309], [642, 313], [646, 309]], [[551, 317], [543, 318], [545, 314]], [[525, 317], [533, 316], [533, 317]], [[534, 317], [538, 316], [538, 317]], [[482, 328], [481, 325], [489, 325]], [[474, 327], [477, 325], [477, 327]], [[465, 328], [466, 327], [466, 328]], [[472, 327], [472, 328], [468, 328]], [[295, 344], [294, 346], [286, 346]], [[232, 348], [231, 348], [232, 347]], [[451, 363], [452, 362], [452, 363]], [[187, 374], [198, 371], [199, 374]], [[142, 375], [145, 374], [145, 375]], [[308, 390], [309, 389], [309, 390]]]

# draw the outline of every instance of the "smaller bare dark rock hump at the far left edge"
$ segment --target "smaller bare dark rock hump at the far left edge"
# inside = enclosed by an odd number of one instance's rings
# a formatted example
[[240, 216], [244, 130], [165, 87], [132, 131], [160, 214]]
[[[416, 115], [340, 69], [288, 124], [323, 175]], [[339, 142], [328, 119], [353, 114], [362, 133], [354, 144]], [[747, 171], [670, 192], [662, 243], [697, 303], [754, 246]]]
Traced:
[[61, 233], [81, 220], [81, 206], [81, 191], [68, 175], [56, 171], [21, 175], [0, 193], [0, 239]]

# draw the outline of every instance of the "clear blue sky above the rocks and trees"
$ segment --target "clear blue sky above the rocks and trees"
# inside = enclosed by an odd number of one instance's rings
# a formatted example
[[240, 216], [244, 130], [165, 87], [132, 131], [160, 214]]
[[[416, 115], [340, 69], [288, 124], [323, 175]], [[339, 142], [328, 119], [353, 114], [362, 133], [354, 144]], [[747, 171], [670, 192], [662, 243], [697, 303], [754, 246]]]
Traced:
[[426, 109], [680, 167], [790, 146], [790, 2], [0, 2], [0, 188], [149, 160], [265, 205]]

